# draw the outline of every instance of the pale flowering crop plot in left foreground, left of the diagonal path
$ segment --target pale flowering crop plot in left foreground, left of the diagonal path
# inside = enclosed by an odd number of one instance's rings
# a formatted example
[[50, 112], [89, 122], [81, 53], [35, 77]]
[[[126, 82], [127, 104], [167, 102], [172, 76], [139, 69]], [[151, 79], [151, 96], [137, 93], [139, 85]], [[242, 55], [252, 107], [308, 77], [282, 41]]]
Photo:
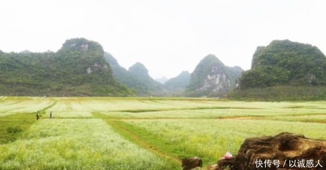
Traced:
[[0, 169], [173, 168], [99, 119], [42, 120], [20, 139], [0, 145]]

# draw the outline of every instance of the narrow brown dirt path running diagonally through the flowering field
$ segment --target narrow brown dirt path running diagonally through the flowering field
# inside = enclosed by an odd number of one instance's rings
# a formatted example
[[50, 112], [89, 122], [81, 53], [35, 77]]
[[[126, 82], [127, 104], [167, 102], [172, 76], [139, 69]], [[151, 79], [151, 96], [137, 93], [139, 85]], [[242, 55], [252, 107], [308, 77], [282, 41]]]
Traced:
[[152, 152], [156, 155], [159, 155], [161, 157], [168, 158], [168, 159], [174, 161], [175, 163], [181, 165], [180, 159], [172, 157], [172, 156], [165, 154], [164, 152], [161, 152], [160, 150], [154, 148], [153, 146], [149, 145], [145, 140], [142, 140], [137, 134], [132, 133], [131, 131], [125, 129], [124, 127], [117, 124], [115, 121], [106, 121], [106, 122], [108, 122], [108, 124], [110, 124], [111, 126], [115, 126], [115, 127], [118, 127], [119, 129], [123, 130], [125, 133], [127, 133], [128, 135], [130, 135], [133, 138], [135, 143], [141, 145], [142, 147], [149, 150], [150, 152]]

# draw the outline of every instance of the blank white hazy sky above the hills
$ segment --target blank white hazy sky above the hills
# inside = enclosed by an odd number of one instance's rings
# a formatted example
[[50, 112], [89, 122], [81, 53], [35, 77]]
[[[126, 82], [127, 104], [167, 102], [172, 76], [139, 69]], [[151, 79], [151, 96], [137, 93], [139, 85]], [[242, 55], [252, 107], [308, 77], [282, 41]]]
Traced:
[[209, 53], [247, 70], [259, 45], [289, 39], [326, 52], [326, 1], [1, 1], [0, 49], [57, 51], [99, 42], [125, 68], [152, 77], [192, 72]]

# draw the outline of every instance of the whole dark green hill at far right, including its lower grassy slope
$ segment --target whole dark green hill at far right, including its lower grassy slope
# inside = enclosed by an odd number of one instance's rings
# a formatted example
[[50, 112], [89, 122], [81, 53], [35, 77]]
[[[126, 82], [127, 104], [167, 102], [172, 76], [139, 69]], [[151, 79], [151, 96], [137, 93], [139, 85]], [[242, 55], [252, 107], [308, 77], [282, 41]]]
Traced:
[[257, 47], [252, 68], [229, 96], [252, 99], [326, 99], [326, 58], [315, 46], [275, 40]]

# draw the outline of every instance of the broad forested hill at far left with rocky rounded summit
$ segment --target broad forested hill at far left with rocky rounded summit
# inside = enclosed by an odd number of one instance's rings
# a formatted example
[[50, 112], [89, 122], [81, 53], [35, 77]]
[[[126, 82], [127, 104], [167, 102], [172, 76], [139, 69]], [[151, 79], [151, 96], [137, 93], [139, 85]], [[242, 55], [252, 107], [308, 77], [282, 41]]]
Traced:
[[0, 52], [0, 95], [127, 96], [100, 44], [67, 40], [58, 52]]

